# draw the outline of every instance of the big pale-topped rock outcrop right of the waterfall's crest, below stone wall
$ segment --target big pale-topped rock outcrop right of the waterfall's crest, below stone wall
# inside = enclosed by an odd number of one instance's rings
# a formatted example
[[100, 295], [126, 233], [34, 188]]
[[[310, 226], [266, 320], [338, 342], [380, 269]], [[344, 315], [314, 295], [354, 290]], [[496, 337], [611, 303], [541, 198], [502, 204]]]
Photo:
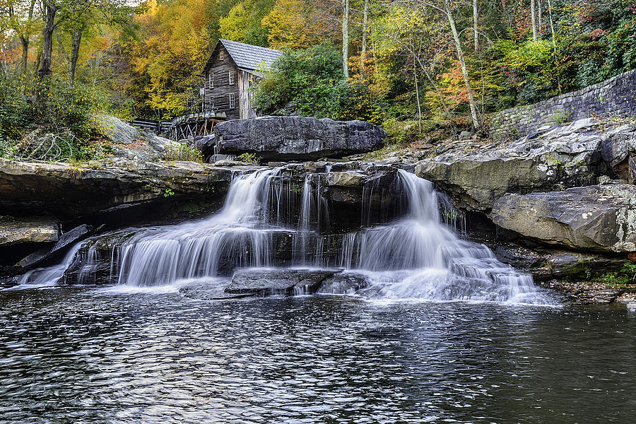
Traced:
[[603, 131], [601, 122], [582, 119], [511, 143], [450, 145], [446, 151], [440, 146], [437, 151], [444, 153], [421, 160], [416, 174], [438, 184], [457, 206], [488, 212], [507, 193], [596, 184], [606, 170], [601, 143], [608, 135]]

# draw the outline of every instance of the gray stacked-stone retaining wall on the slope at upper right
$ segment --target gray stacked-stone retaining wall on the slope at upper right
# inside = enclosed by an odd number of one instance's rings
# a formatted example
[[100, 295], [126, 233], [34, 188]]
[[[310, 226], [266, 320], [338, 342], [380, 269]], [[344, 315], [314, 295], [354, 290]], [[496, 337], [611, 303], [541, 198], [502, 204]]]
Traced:
[[512, 107], [493, 114], [493, 136], [498, 139], [527, 136], [541, 126], [584, 117], [625, 117], [636, 114], [636, 71], [558, 95], [534, 105]]

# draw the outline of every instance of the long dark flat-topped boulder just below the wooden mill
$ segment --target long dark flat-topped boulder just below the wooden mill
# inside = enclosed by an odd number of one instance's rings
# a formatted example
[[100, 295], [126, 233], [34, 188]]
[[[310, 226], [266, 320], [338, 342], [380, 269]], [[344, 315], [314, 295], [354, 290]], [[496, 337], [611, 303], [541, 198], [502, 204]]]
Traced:
[[204, 155], [254, 153], [264, 160], [339, 158], [377, 150], [386, 132], [363, 121], [312, 117], [257, 117], [218, 124], [199, 143]]

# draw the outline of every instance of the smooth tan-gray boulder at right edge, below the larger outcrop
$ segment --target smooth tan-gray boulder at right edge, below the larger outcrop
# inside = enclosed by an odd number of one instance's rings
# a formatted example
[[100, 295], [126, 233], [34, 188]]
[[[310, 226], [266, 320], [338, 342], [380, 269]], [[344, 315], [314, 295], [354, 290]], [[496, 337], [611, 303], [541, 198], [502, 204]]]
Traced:
[[490, 218], [502, 228], [550, 245], [636, 251], [636, 186], [630, 184], [507, 194], [495, 201]]

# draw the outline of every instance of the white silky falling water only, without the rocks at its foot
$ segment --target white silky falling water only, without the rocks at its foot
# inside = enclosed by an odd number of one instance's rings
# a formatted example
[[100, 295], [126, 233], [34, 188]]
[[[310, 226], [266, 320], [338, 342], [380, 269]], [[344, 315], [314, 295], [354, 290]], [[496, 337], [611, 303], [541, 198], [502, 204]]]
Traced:
[[[222, 210], [210, 218], [139, 230], [118, 247], [112, 280], [137, 293], [171, 291], [182, 281], [244, 267], [344, 268], [370, 278], [372, 285], [358, 291], [367, 298], [550, 303], [530, 276], [497, 261], [485, 245], [461, 240], [440, 216], [439, 196], [424, 179], [399, 171], [408, 205], [402, 218], [324, 236], [321, 223], [338, 218], [329, 216], [321, 175], [307, 175], [298, 220], [290, 223], [293, 190], [282, 170], [238, 175]], [[365, 193], [371, 196], [372, 189]], [[368, 220], [364, 204], [361, 220]], [[326, 254], [334, 243], [338, 254]], [[40, 271], [37, 281], [59, 281], [72, 259], [69, 253], [64, 264]], [[30, 276], [23, 280], [34, 283]]]

